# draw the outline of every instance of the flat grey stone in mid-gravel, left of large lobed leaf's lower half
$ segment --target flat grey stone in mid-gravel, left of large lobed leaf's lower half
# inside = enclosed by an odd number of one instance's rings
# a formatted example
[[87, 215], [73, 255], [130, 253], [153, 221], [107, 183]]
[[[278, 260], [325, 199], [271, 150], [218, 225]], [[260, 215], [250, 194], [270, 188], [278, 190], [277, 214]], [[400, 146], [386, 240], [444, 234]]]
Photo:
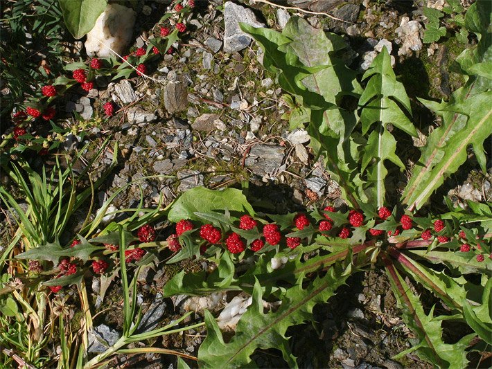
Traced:
[[245, 160], [245, 165], [254, 172], [254, 174], [263, 175], [272, 174], [283, 161], [285, 147], [279, 145], [254, 145]]

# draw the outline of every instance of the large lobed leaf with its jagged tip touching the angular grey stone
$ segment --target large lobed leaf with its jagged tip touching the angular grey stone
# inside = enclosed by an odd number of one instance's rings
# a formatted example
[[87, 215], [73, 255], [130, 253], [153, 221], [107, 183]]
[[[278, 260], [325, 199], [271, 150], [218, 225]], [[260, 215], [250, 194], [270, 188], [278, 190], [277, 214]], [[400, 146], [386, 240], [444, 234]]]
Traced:
[[309, 117], [310, 146], [324, 155], [342, 195], [358, 208], [360, 201], [366, 200], [356, 170], [358, 147], [364, 140], [351, 135], [358, 122], [356, 112], [339, 107], [344, 96], [358, 98], [362, 89], [355, 71], [333, 56], [345, 47], [343, 40], [299, 17], [290, 18], [282, 33], [247, 24], [240, 26], [263, 49], [265, 69], [278, 74], [280, 87], [302, 103], [302, 114]]

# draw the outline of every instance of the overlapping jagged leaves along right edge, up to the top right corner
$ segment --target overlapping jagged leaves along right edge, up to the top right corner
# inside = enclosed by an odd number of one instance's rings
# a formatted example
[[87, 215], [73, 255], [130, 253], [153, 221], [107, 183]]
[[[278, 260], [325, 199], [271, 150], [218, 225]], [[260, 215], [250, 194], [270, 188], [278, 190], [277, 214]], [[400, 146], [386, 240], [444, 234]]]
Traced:
[[421, 208], [443, 180], [458, 170], [466, 161], [469, 145], [486, 172], [483, 143], [492, 134], [492, 73], [487, 69], [492, 60], [491, 7], [489, 1], [478, 1], [466, 13], [468, 29], [480, 42], [457, 58], [462, 71], [468, 74], [465, 86], [457, 89], [448, 102], [421, 99], [443, 120], [441, 127], [430, 134], [403, 193], [403, 202], [410, 210]]

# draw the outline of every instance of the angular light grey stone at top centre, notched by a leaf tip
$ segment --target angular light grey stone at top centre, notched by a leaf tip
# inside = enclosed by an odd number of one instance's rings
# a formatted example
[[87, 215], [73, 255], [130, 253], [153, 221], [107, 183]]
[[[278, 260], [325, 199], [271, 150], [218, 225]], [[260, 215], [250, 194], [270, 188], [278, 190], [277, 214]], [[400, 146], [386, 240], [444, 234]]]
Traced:
[[256, 20], [252, 10], [236, 5], [231, 1], [225, 3], [224, 22], [224, 51], [226, 53], [236, 53], [236, 51], [243, 50], [252, 41], [252, 38], [239, 28], [239, 22], [256, 28], [265, 27], [265, 24]]

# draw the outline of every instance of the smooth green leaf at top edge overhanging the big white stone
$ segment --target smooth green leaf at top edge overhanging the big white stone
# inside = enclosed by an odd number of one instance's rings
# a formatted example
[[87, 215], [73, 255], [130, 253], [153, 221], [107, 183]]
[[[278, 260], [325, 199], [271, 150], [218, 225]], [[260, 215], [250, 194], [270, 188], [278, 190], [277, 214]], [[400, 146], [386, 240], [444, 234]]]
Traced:
[[106, 9], [107, 0], [58, 0], [63, 20], [76, 39], [84, 37]]

